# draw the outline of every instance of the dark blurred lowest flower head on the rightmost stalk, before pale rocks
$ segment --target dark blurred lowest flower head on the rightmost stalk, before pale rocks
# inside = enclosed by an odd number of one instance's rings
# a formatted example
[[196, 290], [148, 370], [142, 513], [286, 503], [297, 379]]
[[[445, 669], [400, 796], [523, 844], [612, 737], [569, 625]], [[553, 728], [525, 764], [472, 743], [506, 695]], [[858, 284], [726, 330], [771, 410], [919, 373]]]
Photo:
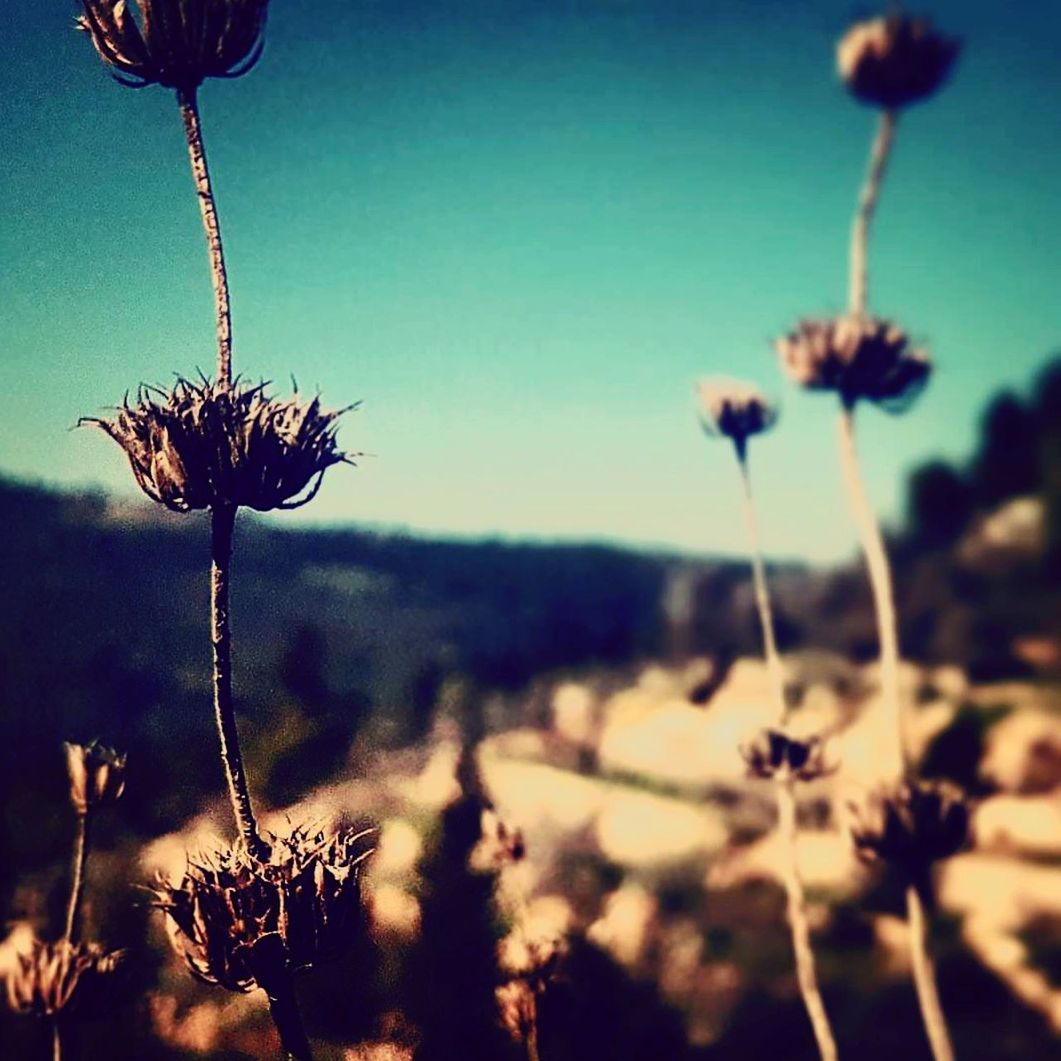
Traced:
[[969, 803], [946, 782], [906, 781], [851, 804], [852, 838], [859, 857], [923, 871], [969, 841]]

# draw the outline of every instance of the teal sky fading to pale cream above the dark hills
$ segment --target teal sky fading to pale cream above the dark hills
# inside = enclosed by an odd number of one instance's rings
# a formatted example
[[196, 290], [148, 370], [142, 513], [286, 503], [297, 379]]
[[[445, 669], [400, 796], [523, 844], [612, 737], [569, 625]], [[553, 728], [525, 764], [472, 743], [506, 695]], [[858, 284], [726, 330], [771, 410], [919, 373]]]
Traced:
[[[966, 49], [900, 121], [871, 247], [871, 308], [938, 366], [906, 416], [859, 413], [890, 519], [1061, 347], [1061, 5], [922, 8]], [[68, 429], [210, 370], [212, 301], [173, 93], [115, 84], [75, 11], [21, 5], [0, 66], [0, 474], [132, 497], [117, 447]], [[725, 373], [783, 401], [752, 452], [768, 551], [848, 554], [834, 403], [769, 341], [843, 308], [875, 112], [833, 50], [873, 11], [275, 0], [260, 65], [202, 91], [234, 363], [362, 400], [341, 437], [372, 454], [280, 518], [740, 550], [692, 401]]]

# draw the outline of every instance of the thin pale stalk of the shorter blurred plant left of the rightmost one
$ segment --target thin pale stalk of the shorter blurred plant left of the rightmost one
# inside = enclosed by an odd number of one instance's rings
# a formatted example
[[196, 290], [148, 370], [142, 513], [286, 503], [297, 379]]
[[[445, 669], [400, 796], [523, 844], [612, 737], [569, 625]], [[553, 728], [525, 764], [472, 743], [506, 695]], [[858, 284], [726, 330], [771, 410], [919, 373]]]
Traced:
[[[784, 690], [784, 671], [778, 643], [773, 630], [773, 611], [770, 607], [770, 594], [766, 584], [766, 570], [763, 563], [763, 551], [760, 543], [759, 520], [751, 492], [751, 476], [748, 472], [747, 447], [743, 442], [736, 445], [737, 464], [741, 468], [741, 483], [744, 488], [744, 514], [748, 529], [751, 552], [752, 575], [755, 584], [755, 604], [759, 609], [759, 623], [763, 631], [763, 649], [766, 655], [767, 671], [778, 702], [780, 721], [787, 715], [787, 700]], [[778, 793], [778, 833], [784, 843], [785, 893], [787, 895], [786, 914], [788, 929], [793, 940], [793, 953], [796, 958], [796, 979], [799, 984], [803, 1005], [806, 1007], [811, 1027], [814, 1030], [815, 1042], [822, 1061], [836, 1061], [838, 1053], [833, 1029], [829, 1023], [829, 1014], [821, 998], [818, 987], [818, 974], [815, 969], [814, 952], [811, 949], [811, 926], [806, 918], [806, 900], [803, 893], [803, 881], [799, 874], [799, 852], [797, 848], [796, 794], [790, 778], [777, 782]]]

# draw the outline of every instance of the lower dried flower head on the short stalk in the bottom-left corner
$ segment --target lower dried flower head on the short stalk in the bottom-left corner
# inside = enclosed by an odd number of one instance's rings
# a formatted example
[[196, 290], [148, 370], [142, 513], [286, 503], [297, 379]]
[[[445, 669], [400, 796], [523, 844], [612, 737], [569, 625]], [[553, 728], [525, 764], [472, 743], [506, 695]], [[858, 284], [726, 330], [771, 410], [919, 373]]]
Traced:
[[16, 1013], [52, 1016], [89, 982], [112, 973], [124, 956], [124, 951], [106, 952], [98, 943], [35, 939], [29, 954], [17, 955], [8, 973], [7, 1003]]

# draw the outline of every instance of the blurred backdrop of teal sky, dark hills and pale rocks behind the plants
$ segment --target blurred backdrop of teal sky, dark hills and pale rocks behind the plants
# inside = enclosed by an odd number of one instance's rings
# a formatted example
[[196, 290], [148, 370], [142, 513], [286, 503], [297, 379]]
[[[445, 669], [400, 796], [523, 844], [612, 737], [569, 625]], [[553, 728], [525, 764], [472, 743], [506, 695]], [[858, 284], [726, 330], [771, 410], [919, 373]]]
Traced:
[[[18, 101], [0, 114], [0, 972], [62, 914], [60, 742], [102, 737], [129, 777], [87, 922], [132, 957], [72, 1056], [265, 1057], [259, 999], [196, 986], [138, 889], [228, 834], [208, 534], [67, 429], [208, 366], [212, 317], [173, 101], [111, 84], [72, 13], [21, 13], [0, 68]], [[958, 1054], [1048, 1058], [1061, 16], [932, 13], [966, 50], [901, 122], [871, 264], [874, 308], [938, 371], [859, 437], [922, 769], [976, 798], [974, 847], [938, 882]], [[237, 541], [255, 790], [278, 825], [380, 829], [365, 933], [301, 988], [321, 1058], [506, 1057], [491, 1006], [514, 929], [568, 940], [545, 1059], [814, 1056], [771, 789], [737, 754], [768, 696], [732, 462], [691, 411], [692, 381], [719, 371], [784, 398], [753, 459], [796, 724], [834, 732], [842, 763], [801, 803], [827, 1006], [845, 1053], [927, 1056], [901, 892], [855, 863], [838, 813], [871, 772], [877, 688], [832, 405], [784, 392], [769, 351], [842, 305], [871, 116], [832, 46], [860, 14], [278, 3], [261, 67], [204, 91], [238, 369], [366, 399], [343, 440], [371, 455], [301, 512], [241, 518]], [[516, 865], [499, 822], [525, 839]], [[41, 1036], [0, 1011], [4, 1057]]]

